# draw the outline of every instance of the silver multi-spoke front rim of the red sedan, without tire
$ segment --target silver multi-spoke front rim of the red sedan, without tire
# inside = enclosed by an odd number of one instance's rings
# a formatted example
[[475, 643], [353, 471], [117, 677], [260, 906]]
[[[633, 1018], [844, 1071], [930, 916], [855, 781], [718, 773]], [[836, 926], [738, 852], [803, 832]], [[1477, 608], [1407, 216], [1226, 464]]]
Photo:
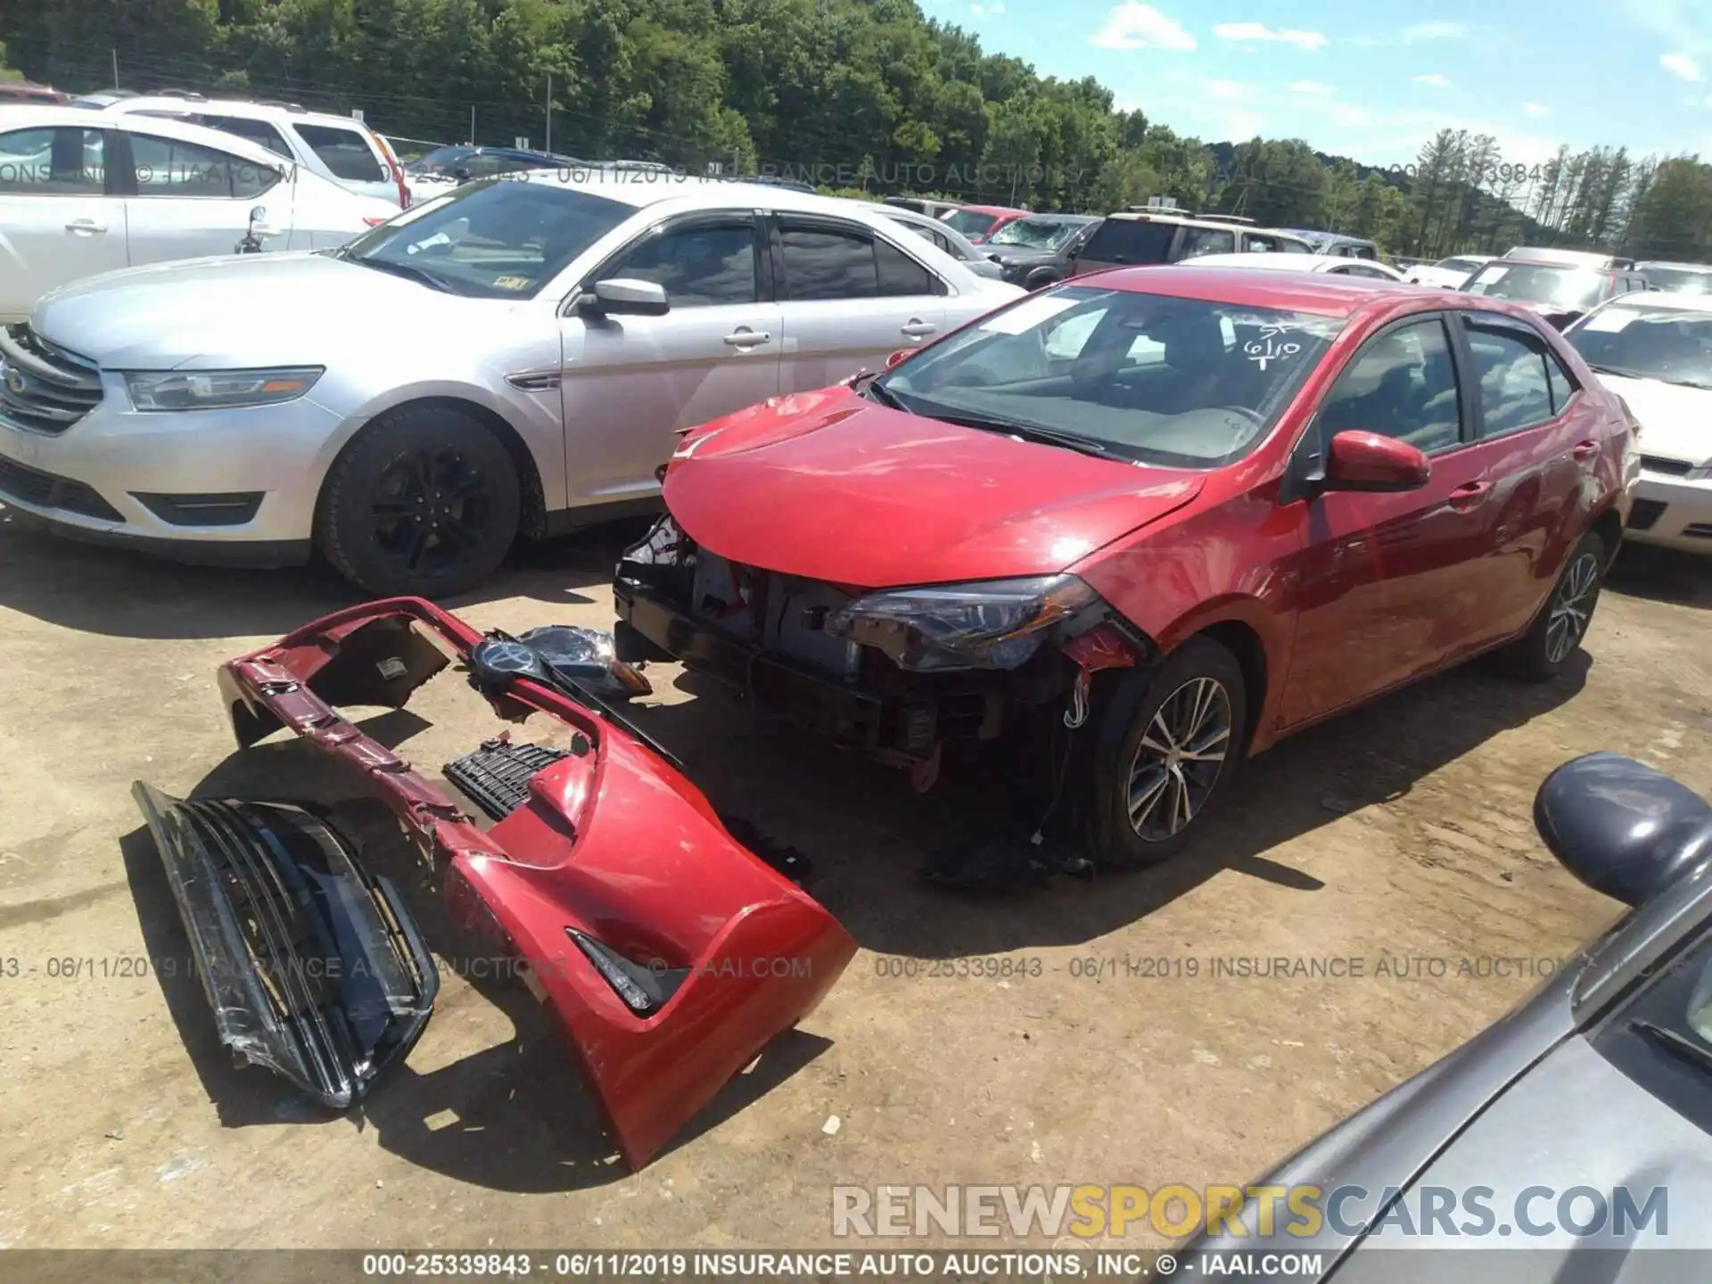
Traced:
[[1180, 834], [1205, 805], [1231, 746], [1231, 693], [1190, 678], [1154, 712], [1130, 765], [1130, 825], [1144, 842]]

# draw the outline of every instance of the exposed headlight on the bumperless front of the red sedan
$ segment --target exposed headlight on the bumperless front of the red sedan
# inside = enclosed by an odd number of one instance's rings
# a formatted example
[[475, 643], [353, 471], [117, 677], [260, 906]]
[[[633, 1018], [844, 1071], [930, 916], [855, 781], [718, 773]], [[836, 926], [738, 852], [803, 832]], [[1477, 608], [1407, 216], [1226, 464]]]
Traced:
[[827, 632], [883, 651], [902, 669], [1015, 669], [1060, 620], [1097, 601], [1075, 575], [870, 592]]

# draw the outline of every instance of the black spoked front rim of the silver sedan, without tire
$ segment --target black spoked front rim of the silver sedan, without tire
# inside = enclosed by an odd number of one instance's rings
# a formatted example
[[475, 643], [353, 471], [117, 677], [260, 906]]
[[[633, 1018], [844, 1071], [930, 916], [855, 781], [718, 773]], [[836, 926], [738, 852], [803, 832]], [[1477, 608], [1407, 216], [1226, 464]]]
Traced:
[[370, 503], [375, 543], [411, 572], [438, 572], [481, 546], [493, 483], [457, 450], [418, 447], [380, 476]]

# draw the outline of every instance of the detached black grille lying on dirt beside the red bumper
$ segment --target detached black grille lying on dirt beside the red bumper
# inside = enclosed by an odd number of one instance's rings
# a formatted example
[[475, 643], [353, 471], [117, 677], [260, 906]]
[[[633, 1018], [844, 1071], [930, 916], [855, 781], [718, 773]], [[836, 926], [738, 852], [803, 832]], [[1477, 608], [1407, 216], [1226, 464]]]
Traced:
[[397, 890], [296, 803], [132, 796], [154, 835], [219, 1039], [332, 1109], [421, 1037], [440, 974]]

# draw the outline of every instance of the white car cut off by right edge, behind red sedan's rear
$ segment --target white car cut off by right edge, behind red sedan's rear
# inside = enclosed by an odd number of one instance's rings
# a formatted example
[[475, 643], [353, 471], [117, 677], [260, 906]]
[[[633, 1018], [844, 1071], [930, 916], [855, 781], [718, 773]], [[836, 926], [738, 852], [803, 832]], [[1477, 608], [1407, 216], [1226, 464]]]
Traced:
[[1712, 296], [1625, 294], [1563, 337], [1640, 421], [1626, 536], [1712, 555]]

